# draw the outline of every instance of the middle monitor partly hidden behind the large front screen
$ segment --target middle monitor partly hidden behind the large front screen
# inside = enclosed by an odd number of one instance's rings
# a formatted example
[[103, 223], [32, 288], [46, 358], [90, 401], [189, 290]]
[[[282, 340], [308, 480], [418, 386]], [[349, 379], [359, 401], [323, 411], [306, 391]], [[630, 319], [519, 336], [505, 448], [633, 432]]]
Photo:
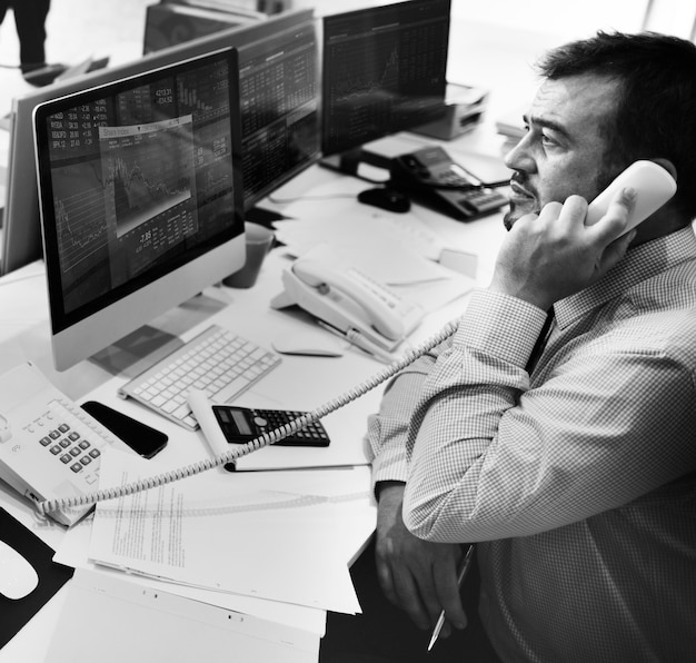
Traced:
[[[222, 48], [239, 51], [245, 117], [245, 207], [297, 175], [319, 157], [318, 44], [311, 10], [188, 41], [110, 69], [40, 88], [13, 100], [0, 274], [41, 257], [41, 231], [33, 158], [32, 112], [44, 101], [87, 87], [173, 65]], [[285, 89], [280, 89], [285, 86]], [[258, 113], [258, 117], [256, 117]]]

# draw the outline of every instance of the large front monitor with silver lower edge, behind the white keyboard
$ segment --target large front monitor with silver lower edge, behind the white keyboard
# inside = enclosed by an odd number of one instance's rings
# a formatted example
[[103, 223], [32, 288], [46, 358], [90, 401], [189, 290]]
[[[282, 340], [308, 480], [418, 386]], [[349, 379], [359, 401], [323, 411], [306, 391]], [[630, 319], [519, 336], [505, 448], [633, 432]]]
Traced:
[[36, 108], [57, 369], [243, 266], [237, 67], [225, 49]]

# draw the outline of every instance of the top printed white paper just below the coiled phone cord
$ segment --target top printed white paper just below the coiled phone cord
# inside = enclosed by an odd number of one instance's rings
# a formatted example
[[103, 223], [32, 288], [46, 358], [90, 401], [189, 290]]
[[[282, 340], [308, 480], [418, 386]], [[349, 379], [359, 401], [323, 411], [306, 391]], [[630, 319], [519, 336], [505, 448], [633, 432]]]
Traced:
[[[110, 451], [101, 485], [151, 472], [142, 459]], [[301, 489], [280, 479], [271, 489], [213, 469], [100, 503], [89, 556], [171, 583], [355, 614], [348, 560], [374, 530], [372, 497], [350, 492], [348, 471], [328, 481], [317, 473], [314, 485], [307, 476]]]

